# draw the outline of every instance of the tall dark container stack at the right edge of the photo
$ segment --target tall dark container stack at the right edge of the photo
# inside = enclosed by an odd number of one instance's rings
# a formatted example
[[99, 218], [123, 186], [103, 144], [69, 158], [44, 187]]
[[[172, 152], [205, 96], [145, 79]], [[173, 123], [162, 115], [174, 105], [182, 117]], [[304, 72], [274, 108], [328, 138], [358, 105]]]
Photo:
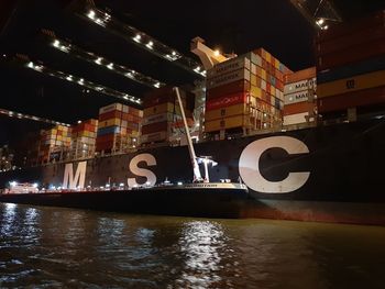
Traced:
[[323, 119], [385, 104], [385, 11], [321, 31], [316, 40], [318, 110]]

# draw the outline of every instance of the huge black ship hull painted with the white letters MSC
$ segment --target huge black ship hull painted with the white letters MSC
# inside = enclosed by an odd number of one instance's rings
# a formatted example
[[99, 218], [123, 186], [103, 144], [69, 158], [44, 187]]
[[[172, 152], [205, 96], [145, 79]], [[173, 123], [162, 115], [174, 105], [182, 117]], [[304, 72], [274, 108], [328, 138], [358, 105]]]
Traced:
[[[195, 148], [198, 156], [209, 155], [218, 163], [209, 168], [211, 181], [234, 181], [241, 177], [249, 187], [253, 199], [240, 202], [239, 218], [385, 225], [384, 120], [207, 142]], [[46, 188], [86, 188], [107, 182], [111, 186], [158, 184], [166, 177], [173, 182], [187, 182], [191, 176], [188, 149], [180, 146], [2, 173], [0, 182], [6, 186], [12, 180], [38, 181]], [[92, 202], [94, 197], [89, 196], [88, 201]], [[44, 204], [36, 198], [34, 204]], [[153, 198], [143, 196], [148, 202]], [[148, 202], [143, 202], [140, 212], [164, 213], [163, 205], [178, 207], [177, 198], [173, 196], [158, 203], [160, 208], [154, 201], [151, 210], [146, 209]], [[197, 194], [189, 201], [205, 202]], [[207, 215], [216, 207], [216, 201], [208, 202]], [[139, 212], [133, 209], [132, 212]], [[187, 215], [188, 210], [180, 214]]]

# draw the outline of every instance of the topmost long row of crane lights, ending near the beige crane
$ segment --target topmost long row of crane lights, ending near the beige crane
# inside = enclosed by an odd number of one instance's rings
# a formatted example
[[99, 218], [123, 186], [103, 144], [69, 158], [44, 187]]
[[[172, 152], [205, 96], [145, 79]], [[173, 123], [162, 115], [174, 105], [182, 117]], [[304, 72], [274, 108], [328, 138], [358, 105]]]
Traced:
[[[112, 21], [110, 14], [102, 12], [100, 10], [96, 10], [96, 9], [92, 9], [92, 10], [89, 10], [88, 12], [86, 12], [87, 18], [97, 24], [100, 24], [97, 22], [97, 20], [102, 19], [103, 15], [106, 15], [106, 14], [109, 15], [109, 18], [108, 18], [108, 21], [105, 21], [103, 25], [101, 25], [103, 27], [107, 26], [108, 22]], [[140, 32], [139, 30], [136, 30], [130, 25], [119, 23], [117, 20], [113, 20], [113, 22], [114, 22], [114, 24], [118, 24], [122, 29], [124, 29], [125, 32], [128, 32], [129, 35], [123, 35], [123, 37], [128, 36], [135, 44], [141, 45], [143, 48], [145, 48], [145, 49], [154, 53], [155, 55], [163, 57], [169, 62], [180, 60], [178, 63], [179, 66], [182, 66], [188, 70], [193, 70], [197, 75], [206, 77], [206, 70], [201, 69], [197, 62], [195, 62], [186, 56], [183, 56], [177, 51], [168, 47], [167, 45], [156, 41], [155, 38], [151, 37], [150, 35], [147, 35], [143, 32]], [[199, 69], [197, 69], [198, 67], [199, 67]]]

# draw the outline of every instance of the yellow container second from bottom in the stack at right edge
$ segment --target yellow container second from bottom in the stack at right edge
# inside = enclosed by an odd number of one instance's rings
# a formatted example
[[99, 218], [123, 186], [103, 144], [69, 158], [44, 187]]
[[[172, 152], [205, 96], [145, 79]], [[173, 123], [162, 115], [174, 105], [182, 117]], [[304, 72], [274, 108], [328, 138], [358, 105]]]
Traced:
[[351, 91], [385, 86], [385, 70], [353, 76], [317, 86], [317, 97], [327, 98]]

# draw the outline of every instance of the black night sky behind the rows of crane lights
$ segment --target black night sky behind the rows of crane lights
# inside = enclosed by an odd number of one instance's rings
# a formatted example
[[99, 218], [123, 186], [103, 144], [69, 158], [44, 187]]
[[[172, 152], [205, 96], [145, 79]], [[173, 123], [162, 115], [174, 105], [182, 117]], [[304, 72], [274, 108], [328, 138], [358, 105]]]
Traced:
[[[80, 86], [18, 66], [11, 62], [16, 53], [42, 60], [51, 68], [82, 76], [136, 97], [142, 97], [148, 90], [106, 68], [55, 51], [40, 36], [41, 29], [50, 29], [77, 46], [169, 85], [193, 84], [196, 79], [193, 74], [76, 15], [74, 9], [81, 1], [1, 2], [2, 109], [73, 123], [79, 119], [96, 118], [100, 107], [116, 101], [101, 93], [85, 93]], [[112, 16], [196, 60], [199, 59], [189, 52], [189, 44], [191, 38], [200, 36], [208, 46], [238, 55], [264, 47], [292, 70], [315, 63], [315, 30], [288, 0], [95, 2]], [[334, 2], [344, 19], [385, 8], [385, 1], [380, 0]], [[40, 127], [42, 125], [37, 123], [0, 116], [0, 144], [18, 141], [26, 131]]]

